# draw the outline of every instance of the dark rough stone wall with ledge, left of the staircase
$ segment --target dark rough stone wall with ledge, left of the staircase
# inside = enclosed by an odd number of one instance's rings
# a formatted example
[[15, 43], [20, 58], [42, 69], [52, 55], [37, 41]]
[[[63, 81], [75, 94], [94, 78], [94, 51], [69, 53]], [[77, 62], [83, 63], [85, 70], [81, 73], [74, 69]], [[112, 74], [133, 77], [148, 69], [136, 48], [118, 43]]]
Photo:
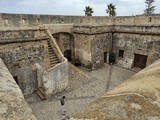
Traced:
[[33, 65], [39, 63], [49, 69], [48, 44], [45, 30], [0, 31], [0, 58], [17, 79], [24, 94], [37, 89], [36, 71]]

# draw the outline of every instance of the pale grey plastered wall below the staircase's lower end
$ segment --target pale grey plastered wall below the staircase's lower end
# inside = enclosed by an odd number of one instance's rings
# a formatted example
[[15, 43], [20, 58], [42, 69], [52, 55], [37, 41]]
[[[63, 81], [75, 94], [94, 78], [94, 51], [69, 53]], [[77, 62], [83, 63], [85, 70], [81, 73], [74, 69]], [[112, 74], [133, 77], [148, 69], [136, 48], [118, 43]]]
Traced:
[[47, 95], [54, 95], [68, 86], [68, 61], [58, 64], [43, 74], [43, 86]]

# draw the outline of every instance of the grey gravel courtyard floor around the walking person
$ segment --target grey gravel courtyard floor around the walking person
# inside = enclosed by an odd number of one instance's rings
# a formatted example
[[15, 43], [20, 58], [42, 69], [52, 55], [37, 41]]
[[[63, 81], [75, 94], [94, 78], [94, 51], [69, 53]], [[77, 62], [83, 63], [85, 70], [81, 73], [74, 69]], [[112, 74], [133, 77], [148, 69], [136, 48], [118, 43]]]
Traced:
[[[91, 78], [77, 76], [76, 84], [70, 85], [66, 91], [56, 94], [49, 100], [41, 101], [37, 94], [33, 94], [26, 100], [38, 120], [62, 120], [86, 107], [89, 103], [133, 76], [136, 72], [118, 66], [105, 64], [98, 70], [88, 72], [80, 67], [80, 70]], [[69, 79], [69, 83], [73, 83]], [[83, 81], [83, 82], [82, 82]], [[60, 113], [59, 99], [66, 96], [66, 116]]]

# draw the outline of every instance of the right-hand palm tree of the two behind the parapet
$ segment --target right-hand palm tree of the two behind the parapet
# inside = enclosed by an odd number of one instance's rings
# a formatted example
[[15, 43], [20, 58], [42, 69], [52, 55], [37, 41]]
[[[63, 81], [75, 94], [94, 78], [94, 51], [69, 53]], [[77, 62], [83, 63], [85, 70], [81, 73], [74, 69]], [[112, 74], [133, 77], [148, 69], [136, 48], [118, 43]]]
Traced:
[[116, 6], [112, 3], [107, 5], [106, 13], [109, 14], [109, 16], [116, 16]]

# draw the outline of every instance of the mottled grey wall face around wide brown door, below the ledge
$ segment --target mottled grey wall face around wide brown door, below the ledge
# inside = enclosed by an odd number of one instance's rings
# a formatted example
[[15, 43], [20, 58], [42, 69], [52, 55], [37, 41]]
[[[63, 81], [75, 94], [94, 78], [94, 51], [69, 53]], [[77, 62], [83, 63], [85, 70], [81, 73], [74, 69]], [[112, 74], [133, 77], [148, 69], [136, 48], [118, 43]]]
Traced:
[[[156, 35], [115, 33], [113, 46], [117, 64], [126, 68], [134, 67], [135, 54], [146, 55], [147, 66], [160, 58], [160, 41]], [[123, 57], [118, 56], [119, 50], [124, 50]]]

